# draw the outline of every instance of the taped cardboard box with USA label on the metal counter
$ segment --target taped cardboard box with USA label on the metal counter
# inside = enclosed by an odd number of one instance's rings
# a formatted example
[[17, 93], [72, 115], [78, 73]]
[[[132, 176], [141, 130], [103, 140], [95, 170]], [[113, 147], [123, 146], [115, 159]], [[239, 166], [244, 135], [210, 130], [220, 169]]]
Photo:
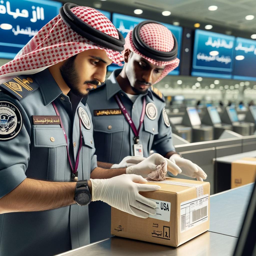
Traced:
[[157, 214], [139, 218], [112, 207], [111, 233], [177, 247], [210, 228], [210, 183], [166, 178], [157, 191], [140, 192], [157, 203]]

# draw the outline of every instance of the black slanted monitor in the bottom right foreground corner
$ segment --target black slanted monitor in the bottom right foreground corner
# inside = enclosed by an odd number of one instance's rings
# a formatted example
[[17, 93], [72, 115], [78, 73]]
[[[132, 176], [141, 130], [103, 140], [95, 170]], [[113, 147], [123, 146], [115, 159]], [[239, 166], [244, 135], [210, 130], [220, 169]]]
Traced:
[[244, 216], [243, 225], [233, 256], [256, 255], [256, 188], [255, 183], [251, 198]]

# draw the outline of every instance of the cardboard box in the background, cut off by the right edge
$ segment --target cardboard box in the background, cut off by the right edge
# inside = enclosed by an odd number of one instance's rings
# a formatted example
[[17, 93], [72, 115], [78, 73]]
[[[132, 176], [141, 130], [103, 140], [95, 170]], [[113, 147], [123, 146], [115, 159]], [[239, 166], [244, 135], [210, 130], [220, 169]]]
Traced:
[[231, 163], [231, 188], [240, 187], [254, 182], [255, 177], [255, 157], [244, 157]]

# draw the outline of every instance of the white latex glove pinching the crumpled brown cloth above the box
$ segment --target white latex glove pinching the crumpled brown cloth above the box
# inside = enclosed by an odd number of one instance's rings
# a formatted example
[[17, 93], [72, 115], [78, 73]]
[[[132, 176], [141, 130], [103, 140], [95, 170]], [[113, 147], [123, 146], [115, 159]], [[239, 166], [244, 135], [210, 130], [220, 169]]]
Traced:
[[126, 174], [137, 174], [142, 177], [147, 177], [148, 174], [156, 170], [156, 166], [165, 162], [163, 172], [170, 171], [173, 175], [181, 173], [181, 169], [171, 160], [161, 156], [160, 154], [154, 153], [142, 162], [132, 165], [126, 168]]

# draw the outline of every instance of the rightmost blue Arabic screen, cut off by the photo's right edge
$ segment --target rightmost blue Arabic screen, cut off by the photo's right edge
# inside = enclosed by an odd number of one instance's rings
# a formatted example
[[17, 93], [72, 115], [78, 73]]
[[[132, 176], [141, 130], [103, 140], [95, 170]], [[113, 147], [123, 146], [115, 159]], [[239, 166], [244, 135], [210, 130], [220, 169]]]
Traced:
[[233, 79], [256, 81], [256, 41], [237, 37]]

